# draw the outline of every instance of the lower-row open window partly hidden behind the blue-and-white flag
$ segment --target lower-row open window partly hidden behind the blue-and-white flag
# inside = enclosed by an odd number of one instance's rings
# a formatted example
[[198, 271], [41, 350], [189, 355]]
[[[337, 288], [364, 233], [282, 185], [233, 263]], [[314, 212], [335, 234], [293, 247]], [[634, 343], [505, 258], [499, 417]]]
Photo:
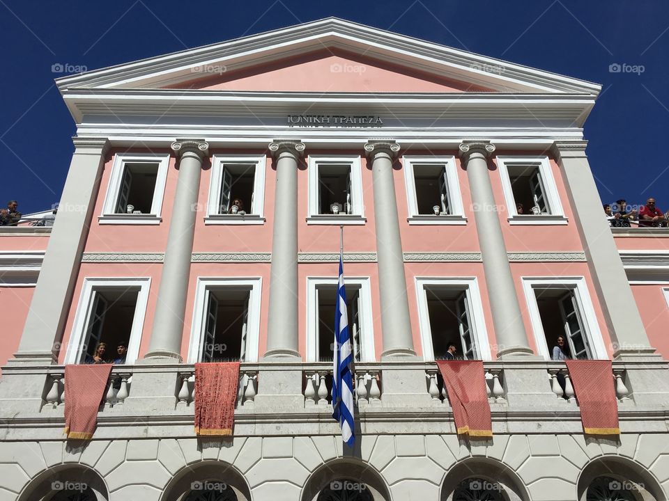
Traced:
[[[371, 326], [369, 279], [344, 278], [348, 333], [355, 362], [374, 362], [374, 333]], [[333, 357], [334, 312], [337, 305], [337, 279], [307, 279], [307, 359], [329, 362]]]

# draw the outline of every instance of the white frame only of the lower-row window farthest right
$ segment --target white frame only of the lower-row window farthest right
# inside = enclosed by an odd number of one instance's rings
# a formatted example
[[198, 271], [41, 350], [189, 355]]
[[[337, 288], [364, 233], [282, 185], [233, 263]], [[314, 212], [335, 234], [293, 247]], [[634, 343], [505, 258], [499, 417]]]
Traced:
[[593, 360], [608, 360], [609, 356], [606, 351], [601, 330], [599, 328], [599, 321], [594, 312], [592, 299], [590, 299], [590, 292], [585, 283], [585, 277], [527, 277], [521, 278], [523, 284], [523, 292], [525, 292], [525, 301], [528, 304], [528, 312], [530, 314], [530, 323], [532, 324], [532, 333], [535, 336], [535, 344], [537, 352], [546, 360], [551, 360], [551, 347], [546, 343], [546, 333], [544, 333], [544, 324], [541, 323], [541, 315], [539, 314], [539, 305], [537, 304], [537, 296], [535, 289], [571, 289], [578, 305], [580, 319], [583, 321], [583, 335], [587, 336], [587, 343], [592, 351]]

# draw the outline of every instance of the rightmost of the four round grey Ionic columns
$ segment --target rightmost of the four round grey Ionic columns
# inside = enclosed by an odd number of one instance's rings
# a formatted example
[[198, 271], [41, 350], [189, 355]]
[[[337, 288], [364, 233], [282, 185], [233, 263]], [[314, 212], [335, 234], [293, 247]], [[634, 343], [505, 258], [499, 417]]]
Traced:
[[476, 232], [495, 335], [500, 345], [498, 358], [532, 355], [488, 173], [487, 159], [495, 151], [495, 146], [485, 142], [462, 143], [459, 150], [472, 193]]

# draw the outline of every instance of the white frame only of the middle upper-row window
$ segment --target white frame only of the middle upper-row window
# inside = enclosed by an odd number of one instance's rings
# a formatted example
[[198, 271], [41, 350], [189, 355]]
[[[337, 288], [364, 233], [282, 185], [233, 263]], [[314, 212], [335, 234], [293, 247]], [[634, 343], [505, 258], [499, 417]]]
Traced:
[[[318, 166], [322, 164], [351, 166], [351, 198], [353, 214], [318, 214]], [[362, 159], [360, 155], [332, 157], [330, 155], [309, 155], [307, 161], [309, 177], [309, 200], [307, 224], [314, 225], [364, 225], [364, 203], [362, 202]]]

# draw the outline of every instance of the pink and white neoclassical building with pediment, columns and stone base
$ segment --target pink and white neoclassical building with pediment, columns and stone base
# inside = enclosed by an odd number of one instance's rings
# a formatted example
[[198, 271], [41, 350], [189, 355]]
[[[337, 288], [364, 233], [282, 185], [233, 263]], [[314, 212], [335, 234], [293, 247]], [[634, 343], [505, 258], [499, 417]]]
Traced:
[[[666, 499], [669, 230], [608, 227], [583, 138], [598, 85], [339, 19], [58, 84], [77, 136], [55, 224], [0, 228], [1, 499], [70, 477], [106, 500], [209, 499], [184, 485], [216, 479], [217, 500], [345, 479], [374, 500], [472, 479]], [[340, 228], [353, 452], [328, 404]], [[620, 441], [583, 437], [557, 337], [614, 361]], [[63, 366], [98, 342], [127, 345], [123, 387], [73, 449]], [[484, 360], [490, 443], [454, 433], [450, 342]], [[213, 360], [242, 361], [236, 430], [201, 447], [193, 364]]]

